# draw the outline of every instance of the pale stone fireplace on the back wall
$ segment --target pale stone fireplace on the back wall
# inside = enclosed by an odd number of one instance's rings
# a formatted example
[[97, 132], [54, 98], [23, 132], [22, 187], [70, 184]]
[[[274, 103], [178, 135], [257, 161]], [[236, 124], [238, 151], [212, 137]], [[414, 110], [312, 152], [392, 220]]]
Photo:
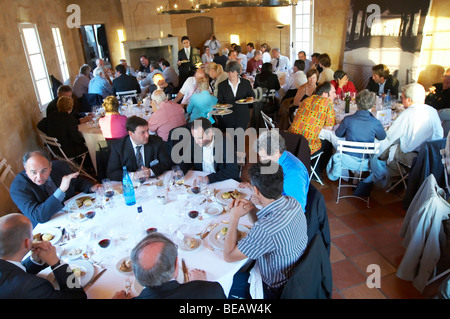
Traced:
[[124, 41], [123, 46], [127, 63], [136, 71], [139, 70], [141, 66], [139, 58], [142, 55], [146, 55], [150, 61], [157, 61], [159, 58], [165, 58], [175, 70], [178, 70], [178, 43], [178, 37], [169, 37]]

